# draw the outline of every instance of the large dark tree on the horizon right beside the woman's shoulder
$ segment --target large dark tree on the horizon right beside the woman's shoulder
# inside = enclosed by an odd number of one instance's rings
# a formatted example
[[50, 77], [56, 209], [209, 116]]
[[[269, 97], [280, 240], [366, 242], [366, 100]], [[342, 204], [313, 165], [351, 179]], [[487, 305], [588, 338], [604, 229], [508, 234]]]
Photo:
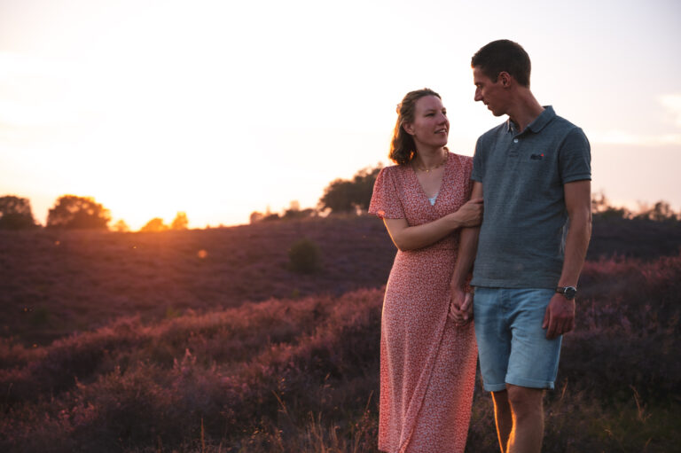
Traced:
[[336, 179], [326, 186], [324, 195], [319, 199], [322, 209], [331, 209], [333, 213], [355, 212], [369, 209], [372, 200], [373, 184], [379, 175], [379, 164], [375, 168], [359, 170], [352, 180]]

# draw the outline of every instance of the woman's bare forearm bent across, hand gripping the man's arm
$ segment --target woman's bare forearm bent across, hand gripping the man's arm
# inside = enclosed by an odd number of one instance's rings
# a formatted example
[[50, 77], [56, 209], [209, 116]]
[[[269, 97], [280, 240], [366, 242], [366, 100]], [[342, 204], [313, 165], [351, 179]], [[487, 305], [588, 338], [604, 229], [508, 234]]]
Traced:
[[409, 226], [406, 219], [383, 219], [383, 222], [395, 246], [405, 251], [430, 246], [458, 228], [479, 225], [481, 218], [482, 199], [479, 198], [430, 223]]

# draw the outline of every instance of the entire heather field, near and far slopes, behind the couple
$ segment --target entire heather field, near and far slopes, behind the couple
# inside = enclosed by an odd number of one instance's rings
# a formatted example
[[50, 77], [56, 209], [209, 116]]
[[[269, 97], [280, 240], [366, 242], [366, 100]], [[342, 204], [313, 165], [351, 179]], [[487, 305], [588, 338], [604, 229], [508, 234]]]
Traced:
[[[681, 445], [679, 230], [594, 224], [544, 451]], [[369, 217], [0, 234], [0, 451], [376, 451], [394, 253]], [[497, 451], [480, 388], [467, 451]]]

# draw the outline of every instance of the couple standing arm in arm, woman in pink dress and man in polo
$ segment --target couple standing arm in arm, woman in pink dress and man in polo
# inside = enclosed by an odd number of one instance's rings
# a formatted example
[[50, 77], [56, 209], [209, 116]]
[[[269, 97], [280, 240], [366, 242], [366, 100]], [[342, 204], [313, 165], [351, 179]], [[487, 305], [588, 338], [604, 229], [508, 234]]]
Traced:
[[389, 453], [464, 451], [478, 352], [502, 453], [540, 451], [543, 389], [574, 326], [589, 142], [537, 103], [518, 43], [489, 43], [471, 66], [475, 100], [508, 121], [478, 139], [473, 159], [460, 156], [445, 147], [440, 96], [408, 93], [389, 154], [397, 165], [381, 170], [369, 208], [398, 248], [380, 337], [379, 449]]

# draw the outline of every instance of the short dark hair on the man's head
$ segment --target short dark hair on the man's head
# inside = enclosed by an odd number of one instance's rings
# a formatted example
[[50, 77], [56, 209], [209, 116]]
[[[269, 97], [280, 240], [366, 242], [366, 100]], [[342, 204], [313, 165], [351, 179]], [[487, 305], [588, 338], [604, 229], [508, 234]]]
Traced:
[[529, 55], [521, 44], [508, 39], [500, 39], [481, 47], [471, 59], [471, 67], [480, 67], [482, 74], [497, 82], [502, 71], [513, 75], [513, 78], [525, 88], [529, 88], [529, 73], [532, 65]]

